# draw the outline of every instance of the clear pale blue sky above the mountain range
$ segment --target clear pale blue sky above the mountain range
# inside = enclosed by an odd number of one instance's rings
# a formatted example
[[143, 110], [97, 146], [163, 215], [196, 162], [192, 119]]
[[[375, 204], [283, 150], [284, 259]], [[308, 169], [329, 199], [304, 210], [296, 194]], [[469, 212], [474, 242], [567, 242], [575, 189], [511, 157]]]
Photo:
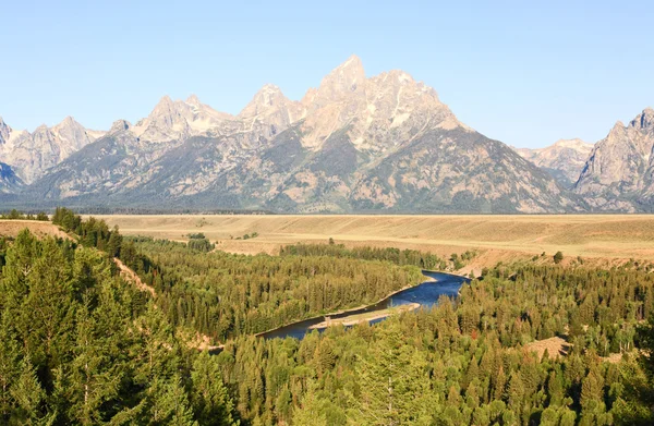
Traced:
[[595, 142], [654, 106], [651, 1], [438, 3], [4, 0], [0, 115], [108, 129], [192, 93], [235, 113], [265, 83], [300, 99], [352, 53], [516, 146]]

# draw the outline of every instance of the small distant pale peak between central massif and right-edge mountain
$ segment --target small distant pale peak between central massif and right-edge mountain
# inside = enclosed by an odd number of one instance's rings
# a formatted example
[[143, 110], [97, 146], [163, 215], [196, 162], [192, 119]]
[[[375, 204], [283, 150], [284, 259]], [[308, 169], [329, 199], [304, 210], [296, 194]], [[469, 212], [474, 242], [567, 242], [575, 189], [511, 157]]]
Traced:
[[567, 188], [577, 183], [592, 150], [593, 144], [581, 139], [560, 139], [541, 149], [516, 149], [520, 156], [552, 174]]

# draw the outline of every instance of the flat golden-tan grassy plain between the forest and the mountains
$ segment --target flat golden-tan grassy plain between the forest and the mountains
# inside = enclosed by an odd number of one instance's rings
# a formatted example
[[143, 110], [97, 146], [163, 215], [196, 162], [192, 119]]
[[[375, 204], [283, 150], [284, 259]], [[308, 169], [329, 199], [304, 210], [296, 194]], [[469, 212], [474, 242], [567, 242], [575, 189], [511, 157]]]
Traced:
[[[651, 215], [157, 215], [100, 216], [129, 235], [185, 241], [203, 232], [218, 248], [270, 253], [296, 242], [334, 238], [348, 246], [375, 245], [432, 251], [440, 255], [477, 249], [475, 266], [564, 252], [597, 264], [634, 258], [654, 261]], [[242, 240], [256, 232], [255, 239]], [[241, 240], [238, 240], [241, 238]]]

